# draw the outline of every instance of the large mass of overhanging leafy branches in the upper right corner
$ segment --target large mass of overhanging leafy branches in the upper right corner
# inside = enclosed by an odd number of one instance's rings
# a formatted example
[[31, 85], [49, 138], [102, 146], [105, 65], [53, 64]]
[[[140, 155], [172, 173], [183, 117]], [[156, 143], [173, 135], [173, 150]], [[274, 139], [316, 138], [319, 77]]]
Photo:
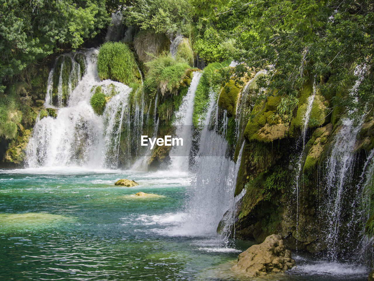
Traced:
[[[343, 93], [332, 105], [355, 116], [373, 100], [373, 19], [373, 1], [231, 0], [197, 22], [194, 49], [207, 61], [217, 60], [227, 55], [220, 45], [230, 41], [235, 61], [268, 70], [259, 87], [297, 96], [316, 77], [321, 94], [330, 99]], [[359, 76], [354, 66], [364, 79], [350, 93]], [[246, 71], [236, 68], [237, 77]]]

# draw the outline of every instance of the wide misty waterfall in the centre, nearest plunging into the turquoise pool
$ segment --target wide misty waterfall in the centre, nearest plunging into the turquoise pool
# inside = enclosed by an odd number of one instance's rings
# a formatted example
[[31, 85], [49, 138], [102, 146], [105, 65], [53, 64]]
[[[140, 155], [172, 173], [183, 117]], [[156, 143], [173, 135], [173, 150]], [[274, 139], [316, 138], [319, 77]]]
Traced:
[[216, 236], [220, 220], [233, 206], [237, 166], [230, 157], [226, 157], [228, 143], [218, 133], [227, 128], [215, 126], [218, 102], [213, 91], [209, 99], [199, 151], [194, 159], [196, 173], [191, 182], [186, 213], [177, 227], [167, 229], [171, 235]]

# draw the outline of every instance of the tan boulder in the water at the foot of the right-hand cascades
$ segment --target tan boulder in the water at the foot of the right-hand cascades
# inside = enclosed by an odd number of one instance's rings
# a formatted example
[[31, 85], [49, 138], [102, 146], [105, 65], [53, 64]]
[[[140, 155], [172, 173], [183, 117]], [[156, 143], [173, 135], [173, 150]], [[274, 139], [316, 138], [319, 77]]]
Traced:
[[270, 235], [265, 241], [253, 245], [239, 254], [231, 270], [246, 277], [264, 276], [270, 272], [285, 272], [295, 266], [291, 252], [283, 245], [281, 235]]

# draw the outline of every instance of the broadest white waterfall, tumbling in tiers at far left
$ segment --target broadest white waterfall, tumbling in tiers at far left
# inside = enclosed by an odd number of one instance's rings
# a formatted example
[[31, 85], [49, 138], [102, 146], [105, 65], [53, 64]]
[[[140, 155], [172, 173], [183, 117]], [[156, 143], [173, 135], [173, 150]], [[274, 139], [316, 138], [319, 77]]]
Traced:
[[[27, 146], [29, 167], [117, 167], [121, 134], [129, 135], [129, 130], [123, 129], [123, 126], [128, 128], [130, 123], [127, 100], [131, 88], [111, 80], [100, 81], [96, 67], [97, 54], [98, 49], [88, 49], [77, 54], [64, 54], [57, 59], [48, 78], [45, 106], [58, 106], [58, 114], [56, 118], [42, 118], [34, 126]], [[76, 67], [73, 60], [77, 62]], [[70, 73], [64, 70], [69, 68], [64, 68], [67, 64], [61, 61], [71, 61]], [[61, 66], [61, 70], [57, 66]], [[61, 76], [62, 72], [69, 75]], [[82, 73], [82, 78], [74, 80], [74, 77], [80, 77], [74, 76], [75, 73]], [[65, 103], [53, 101], [55, 93], [51, 89], [56, 88], [56, 79], [53, 79], [56, 76], [62, 77], [58, 79], [58, 88], [61, 88], [60, 85], [71, 85], [66, 106]], [[90, 105], [97, 87], [105, 94], [114, 94], [102, 116], [95, 114]], [[123, 125], [125, 123], [127, 125]]]

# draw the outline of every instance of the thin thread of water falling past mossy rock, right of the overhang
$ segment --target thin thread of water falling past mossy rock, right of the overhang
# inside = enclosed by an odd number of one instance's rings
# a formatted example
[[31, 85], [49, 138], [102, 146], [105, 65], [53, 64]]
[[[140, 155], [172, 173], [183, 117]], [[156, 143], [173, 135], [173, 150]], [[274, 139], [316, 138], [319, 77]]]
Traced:
[[308, 104], [307, 108], [305, 111], [305, 114], [303, 116], [303, 130], [301, 131], [301, 136], [303, 137], [303, 148], [301, 149], [301, 153], [299, 155], [299, 159], [297, 162], [297, 174], [296, 174], [296, 186], [295, 186], [295, 191], [296, 191], [296, 202], [297, 202], [297, 209], [296, 209], [296, 232], [298, 232], [298, 220], [299, 220], [299, 185], [300, 185], [300, 177], [301, 177], [301, 169], [302, 169], [302, 159], [304, 156], [304, 150], [305, 150], [305, 139], [306, 139], [306, 133], [308, 130], [308, 124], [309, 124], [309, 117], [310, 117], [310, 112], [312, 111], [313, 107], [313, 101], [316, 96], [316, 81], [314, 80], [313, 82], [313, 93], [311, 96], [308, 97]]

